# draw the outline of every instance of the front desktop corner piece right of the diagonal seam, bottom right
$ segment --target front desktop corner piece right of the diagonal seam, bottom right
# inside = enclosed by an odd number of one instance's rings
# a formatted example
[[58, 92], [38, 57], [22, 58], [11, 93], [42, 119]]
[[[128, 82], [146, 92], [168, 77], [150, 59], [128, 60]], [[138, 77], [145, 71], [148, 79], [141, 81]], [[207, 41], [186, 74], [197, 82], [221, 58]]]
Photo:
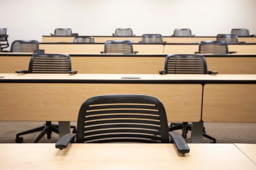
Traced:
[[256, 145], [255, 144], [243, 144], [235, 143], [236, 147], [240, 149], [250, 160], [256, 164]]

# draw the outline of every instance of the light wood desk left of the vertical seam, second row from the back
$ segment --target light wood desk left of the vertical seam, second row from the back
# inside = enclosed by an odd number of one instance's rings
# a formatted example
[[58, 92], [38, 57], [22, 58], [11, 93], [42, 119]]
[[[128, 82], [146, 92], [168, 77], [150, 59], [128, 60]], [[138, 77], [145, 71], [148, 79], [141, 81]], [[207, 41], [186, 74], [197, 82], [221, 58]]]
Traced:
[[[104, 43], [39, 43], [39, 49], [45, 53], [98, 53], [104, 51]], [[133, 51], [141, 54], [159, 54], [164, 52], [163, 44], [133, 43]]]

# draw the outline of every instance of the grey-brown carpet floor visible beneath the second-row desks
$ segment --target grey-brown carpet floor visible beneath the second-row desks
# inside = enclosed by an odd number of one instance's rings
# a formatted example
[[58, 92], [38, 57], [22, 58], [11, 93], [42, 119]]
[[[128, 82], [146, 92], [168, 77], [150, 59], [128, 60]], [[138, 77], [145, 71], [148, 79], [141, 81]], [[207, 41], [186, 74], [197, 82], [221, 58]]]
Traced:
[[[15, 143], [16, 133], [42, 126], [45, 122], [27, 122], [27, 121], [0, 121], [0, 143]], [[58, 122], [52, 122], [57, 124]], [[76, 126], [77, 122], [71, 122]], [[256, 123], [204, 123], [207, 134], [216, 138], [217, 143], [252, 143], [256, 144]], [[177, 130], [181, 133], [181, 130]], [[37, 133], [23, 135], [23, 143], [32, 143]], [[56, 143], [59, 136], [52, 133], [51, 139], [44, 137], [38, 143]], [[185, 139], [190, 143], [190, 132]], [[203, 138], [203, 143], [210, 143], [209, 139]]]

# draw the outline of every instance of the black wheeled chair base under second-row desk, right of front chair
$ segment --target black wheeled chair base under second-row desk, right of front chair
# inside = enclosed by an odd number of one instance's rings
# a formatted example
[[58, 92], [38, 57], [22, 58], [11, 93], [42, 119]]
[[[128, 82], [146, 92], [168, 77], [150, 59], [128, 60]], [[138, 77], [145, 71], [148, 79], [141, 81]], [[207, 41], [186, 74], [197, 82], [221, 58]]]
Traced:
[[[187, 132], [191, 131], [191, 124], [188, 124], [188, 122], [180, 123], [171, 123], [171, 126], [168, 127], [169, 131], [179, 130], [182, 129], [181, 135], [183, 138], [187, 138]], [[211, 143], [216, 143], [216, 139], [210, 135], [208, 135], [205, 131], [205, 127], [203, 128], [203, 137], [206, 137], [210, 140], [212, 140]]]

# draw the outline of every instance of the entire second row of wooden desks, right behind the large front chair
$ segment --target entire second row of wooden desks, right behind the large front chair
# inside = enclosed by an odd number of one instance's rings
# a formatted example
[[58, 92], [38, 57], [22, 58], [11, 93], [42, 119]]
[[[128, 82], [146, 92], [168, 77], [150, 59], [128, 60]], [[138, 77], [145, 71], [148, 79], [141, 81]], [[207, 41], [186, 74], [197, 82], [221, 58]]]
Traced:
[[[77, 121], [84, 100], [105, 94], [145, 94], [159, 98], [169, 122], [193, 122], [192, 143], [202, 143], [202, 121], [256, 122], [255, 75], [1, 73], [0, 76], [4, 76], [0, 78], [0, 120], [59, 121], [60, 136], [69, 133], [69, 121]], [[121, 79], [126, 76], [140, 79]]]

